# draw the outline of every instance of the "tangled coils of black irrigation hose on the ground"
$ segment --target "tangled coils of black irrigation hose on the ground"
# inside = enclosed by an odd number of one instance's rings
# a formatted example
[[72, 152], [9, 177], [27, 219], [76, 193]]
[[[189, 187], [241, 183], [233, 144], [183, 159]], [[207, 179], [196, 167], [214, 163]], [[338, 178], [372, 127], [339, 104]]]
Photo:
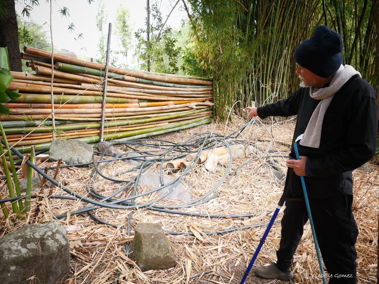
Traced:
[[[87, 189], [87, 191], [88, 191], [88, 193], [89, 193], [90, 196], [92, 196], [92, 197], [94, 197], [96, 199], [100, 199], [100, 201], [92, 200], [90, 198], [83, 197], [83, 196], [81, 196], [81, 195], [73, 192], [72, 190], [70, 190], [67, 187], [61, 185], [59, 182], [55, 181], [50, 176], [48, 176], [47, 174], [45, 174], [41, 169], [39, 169], [38, 167], [36, 167], [36, 165], [34, 165], [33, 163], [31, 163], [30, 161], [26, 161], [26, 162], [34, 170], [36, 170], [41, 176], [45, 177], [48, 181], [50, 181], [51, 183], [53, 183], [55, 186], [63, 189], [65, 192], [67, 192], [67, 193], [69, 193], [69, 195], [71, 195], [71, 196], [53, 195], [52, 198], [55, 198], [55, 199], [56, 198], [58, 198], [58, 199], [68, 199], [68, 200], [81, 200], [81, 201], [83, 201], [85, 203], [89, 203], [89, 204], [95, 205], [95, 206], [86, 206], [85, 208], [79, 209], [77, 211], [70, 212], [70, 215], [81, 214], [81, 213], [87, 212], [91, 218], [93, 218], [97, 222], [105, 224], [105, 225], [114, 226], [114, 227], [120, 227], [120, 226], [116, 226], [116, 225], [113, 225], [111, 223], [105, 222], [103, 220], [100, 220], [94, 214], [92, 214], [92, 212], [91, 212], [92, 210], [99, 209], [99, 208], [111, 208], [111, 209], [144, 208], [144, 209], [148, 209], [148, 210], [152, 210], [152, 211], [157, 211], [157, 212], [164, 212], [164, 213], [169, 213], [169, 214], [180, 214], [180, 215], [193, 216], [193, 217], [240, 218], [240, 219], [241, 218], [249, 218], [249, 217], [254, 217], [256, 215], [259, 215], [259, 214], [210, 215], [210, 214], [198, 214], [198, 213], [188, 213], [188, 212], [174, 211], [172, 209], [188, 208], [188, 207], [191, 207], [191, 206], [196, 206], [196, 205], [199, 205], [199, 204], [203, 204], [203, 203], [206, 203], [206, 202], [210, 201], [211, 199], [213, 199], [213, 198], [215, 198], [216, 196], [219, 195], [219, 193], [214, 193], [214, 192], [225, 181], [228, 173], [230, 172], [231, 162], [232, 162], [232, 151], [230, 150], [229, 144], [227, 142], [225, 142], [224, 139], [226, 139], [228, 137], [232, 138], [232, 139], [236, 139], [236, 137], [238, 137], [238, 135], [240, 135], [241, 131], [243, 131], [244, 128], [246, 128], [246, 126], [249, 125], [249, 123], [251, 123], [252, 121], [254, 121], [254, 119], [250, 120], [248, 123], [246, 123], [244, 126], [242, 126], [239, 130], [234, 131], [233, 133], [229, 134], [226, 137], [221, 136], [219, 134], [215, 134], [215, 133], [200, 133], [200, 134], [196, 134], [195, 136], [189, 138], [183, 144], [174, 144], [173, 142], [170, 142], [170, 141], [156, 140], [156, 139], [137, 139], [137, 140], [133, 140], [133, 141], [129, 141], [129, 142], [116, 142], [116, 143], [111, 144], [111, 145], [124, 144], [127, 148], [130, 148], [133, 151], [135, 151], [136, 154], [139, 154], [139, 156], [124, 157], [124, 155], [127, 154], [127, 153], [120, 154], [118, 156], [108, 155], [107, 154], [107, 156], [111, 156], [111, 157], [114, 157], [114, 158], [107, 159], [107, 160], [102, 160], [102, 158], [103, 158], [103, 156], [105, 156], [105, 154], [101, 153], [101, 157], [100, 157], [99, 161], [94, 161], [94, 156], [92, 156], [92, 162], [89, 162], [89, 163], [81, 163], [81, 164], [74, 164], [74, 165], [62, 165], [61, 166], [61, 167], [70, 167], [70, 166], [83, 166], [83, 165], [90, 165], [90, 164], [92, 164], [94, 166], [94, 170], [92, 171], [92, 173], [90, 175], [90, 178], [89, 178], [91, 180], [91, 182], [88, 183], [88, 184], [90, 184], [90, 186], [87, 186], [86, 189]], [[236, 136], [232, 137], [233, 134], [236, 134]], [[212, 138], [210, 140], [208, 139], [209, 136], [212, 136]], [[219, 139], [219, 138], [222, 138], [222, 139]], [[144, 142], [143, 143], [139, 142], [141, 140], [143, 140]], [[152, 143], [149, 143], [147, 141], [152, 141]], [[1, 142], [3, 143], [3, 140], [1, 140]], [[156, 142], [156, 143], [153, 143], [153, 142]], [[164, 144], [160, 144], [160, 142], [163, 142]], [[191, 170], [194, 167], [195, 161], [197, 161], [197, 158], [199, 157], [199, 154], [201, 153], [202, 150], [210, 149], [210, 148], [214, 148], [214, 147], [221, 147], [221, 146], [217, 146], [216, 145], [218, 142], [219, 143], [221, 142], [222, 144], [225, 144], [225, 146], [229, 150], [229, 155], [230, 156], [229, 156], [229, 164], [227, 166], [225, 174], [222, 176], [222, 178], [219, 181], [219, 183], [215, 187], [213, 187], [212, 190], [210, 190], [208, 193], [206, 193], [205, 195], [203, 195], [202, 197], [200, 197], [200, 198], [198, 198], [196, 200], [193, 200], [193, 201], [190, 201], [190, 202], [184, 203], [184, 204], [179, 204], [179, 205], [176, 205], [176, 206], [161, 206], [161, 205], [155, 204], [157, 201], [162, 200], [164, 197], [168, 196], [169, 193], [171, 193], [175, 189], [175, 186], [177, 186], [180, 183], [180, 180], [183, 178], [183, 176], [189, 170]], [[170, 145], [170, 144], [172, 144], [172, 145]], [[132, 147], [132, 145], [134, 147]], [[110, 146], [108, 146], [108, 148]], [[150, 148], [155, 148], [155, 149], [159, 149], [159, 150], [138, 151], [137, 150], [138, 147], [145, 147], [145, 148], [146, 147], [150, 147]], [[190, 151], [188, 147], [189, 148], [197, 147], [197, 150]], [[106, 150], [108, 148], [106, 148]], [[182, 150], [182, 149], [184, 149], [184, 150]], [[11, 148], [11, 150], [17, 156], [19, 156], [19, 158], [21, 158], [21, 159], [23, 158], [23, 155], [21, 153], [19, 153], [19, 151], [15, 150], [13, 148]], [[104, 152], [106, 152], [106, 150]], [[45, 151], [41, 151], [40, 153], [44, 153]], [[164, 151], [164, 152], [163, 152], [163, 154], [152, 154], [153, 152], [158, 152], [158, 151]], [[272, 150], [271, 152], [273, 152], [273, 151], [274, 150]], [[100, 153], [100, 152], [97, 152], [97, 151], [94, 151], [94, 152], [95, 153]], [[175, 152], [177, 153], [176, 155], [173, 154]], [[176, 178], [174, 181], [172, 181], [172, 182], [170, 182], [170, 183], [168, 183], [166, 185], [162, 185], [162, 186], [158, 187], [157, 189], [150, 190], [150, 191], [144, 192], [144, 193], [140, 193], [138, 195], [135, 194], [136, 193], [136, 186], [138, 184], [138, 179], [141, 176], [141, 173], [146, 172], [146, 170], [149, 169], [150, 167], [152, 167], [152, 165], [154, 163], [156, 163], [156, 162], [160, 162], [162, 164], [163, 161], [170, 161], [172, 159], [182, 158], [182, 157], [184, 157], [188, 153], [196, 153], [196, 154], [194, 155], [194, 158], [189, 163], [189, 165], [186, 167], [186, 169], [183, 170], [183, 173], [179, 176], [179, 178]], [[164, 156], [166, 154], [171, 154], [172, 156], [170, 156], [168, 158], [164, 158]], [[156, 158], [146, 159], [147, 157], [149, 157], [149, 158], [156, 157]], [[266, 156], [262, 156], [262, 157], [251, 159], [251, 160], [245, 162], [240, 167], [238, 167], [232, 173], [232, 175], [227, 179], [226, 184], [224, 186], [226, 186], [227, 184], [230, 183], [231, 179], [236, 174], [236, 172], [239, 169], [241, 169], [241, 167], [243, 167], [244, 165], [248, 164], [249, 162], [255, 161], [257, 159], [269, 158], [269, 157], [287, 157], [287, 156], [266, 155]], [[105, 176], [105, 175], [103, 175], [101, 173], [101, 170], [106, 165], [108, 165], [110, 162], [117, 161], [117, 160], [125, 160], [125, 159], [133, 159], [133, 160], [141, 161], [141, 164], [139, 164], [138, 166], [136, 166], [133, 169], [130, 169], [130, 170], [124, 172], [124, 173], [132, 172], [134, 170], [138, 170], [139, 169], [138, 175], [134, 179], [132, 179], [131, 181], [124, 181], [124, 180], [114, 179], [112, 177]], [[99, 169], [97, 167], [97, 164], [100, 164], [100, 163], [104, 163], [104, 164]], [[50, 168], [47, 168], [47, 169], [55, 169], [55, 168], [56, 167], [50, 167]], [[161, 179], [162, 179], [162, 170], [160, 171], [160, 173], [161, 173], [160, 176], [161, 176]], [[119, 174], [115, 175], [114, 177], [116, 177], [118, 175], [121, 175], [121, 174], [123, 174], [123, 173], [119, 173]], [[101, 195], [100, 193], [96, 192], [96, 190], [93, 188], [93, 184], [94, 184], [93, 180], [96, 179], [97, 175], [100, 175], [104, 179], [107, 179], [107, 180], [110, 180], [110, 181], [114, 181], [114, 182], [117, 182], [117, 183], [124, 182], [124, 183], [127, 183], [127, 185], [124, 186], [124, 187], [122, 187], [120, 190], [117, 190], [116, 192], [112, 193], [111, 195], [108, 195], [108, 196], [105, 197], [105, 196]], [[117, 194], [121, 193], [122, 190], [126, 189], [129, 186], [132, 186], [133, 183], [135, 185], [134, 185], [134, 194], [132, 195], [132, 197], [124, 198], [124, 199], [121, 199], [121, 200], [116, 200], [116, 199], [112, 198], [112, 197], [116, 196]], [[145, 203], [145, 204], [139, 204], [139, 203], [135, 203], [134, 202], [134, 199], [136, 197], [140, 197], [140, 196], [143, 196], [143, 195], [155, 192], [155, 191], [163, 189], [163, 188], [165, 188], [165, 187], [167, 187], [167, 186], [169, 186], [171, 184], [175, 184], [174, 187], [171, 190], [166, 191], [157, 200], [154, 200], [154, 201], [151, 201], [151, 202]], [[36, 196], [37, 195], [31, 195], [31, 198], [36, 198]], [[19, 199], [22, 199], [22, 198], [25, 198], [25, 196], [14, 197], [14, 198], [6, 198], [6, 199], [3, 199], [3, 200], [0, 200], [0, 203], [4, 203], [4, 202], [8, 202], [8, 201], [15, 201], [15, 200], [19, 200]], [[131, 200], [131, 201], [128, 201], [128, 200]], [[110, 202], [105, 202], [105, 201], [110, 201]], [[119, 205], [117, 205], [117, 204], [119, 204]], [[266, 212], [265, 214], [268, 214], [268, 213], [270, 213], [270, 212]], [[261, 213], [261, 214], [264, 214], [264, 213]], [[60, 215], [60, 216], [55, 216], [55, 218], [58, 219], [58, 218], [66, 217], [66, 216], [67, 216], [67, 214], [63, 214], [63, 215]], [[129, 217], [130, 218], [128, 218], [129, 219], [128, 223], [130, 224], [131, 216], [129, 216]], [[207, 232], [206, 234], [207, 235], [211, 235], [211, 234], [230, 233], [232, 231], [236, 231], [236, 230], [240, 230], [240, 229], [248, 229], [248, 228], [259, 227], [259, 226], [264, 226], [264, 225], [253, 225], [253, 226], [244, 226], [244, 227], [223, 229], [223, 230], [219, 230], [219, 231]], [[124, 227], [122, 227], [122, 228], [124, 228]], [[130, 228], [127, 228], [127, 231], [130, 234]], [[186, 235], [193, 236], [193, 233], [189, 233], [189, 232], [167, 232], [167, 233], [172, 234], [172, 235], [183, 235], [183, 234], [186, 234]]]

